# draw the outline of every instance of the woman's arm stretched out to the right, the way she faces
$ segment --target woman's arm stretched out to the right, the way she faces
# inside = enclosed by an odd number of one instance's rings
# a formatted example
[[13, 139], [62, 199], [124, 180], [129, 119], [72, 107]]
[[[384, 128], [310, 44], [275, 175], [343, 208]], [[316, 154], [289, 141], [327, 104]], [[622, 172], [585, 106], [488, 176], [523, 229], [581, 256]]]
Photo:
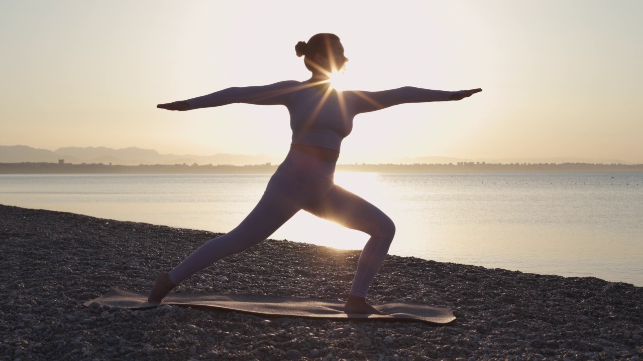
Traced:
[[351, 91], [358, 113], [372, 112], [404, 103], [425, 103], [428, 101], [462, 100], [482, 89], [463, 91], [437, 91], [416, 87], [401, 87], [386, 91]]

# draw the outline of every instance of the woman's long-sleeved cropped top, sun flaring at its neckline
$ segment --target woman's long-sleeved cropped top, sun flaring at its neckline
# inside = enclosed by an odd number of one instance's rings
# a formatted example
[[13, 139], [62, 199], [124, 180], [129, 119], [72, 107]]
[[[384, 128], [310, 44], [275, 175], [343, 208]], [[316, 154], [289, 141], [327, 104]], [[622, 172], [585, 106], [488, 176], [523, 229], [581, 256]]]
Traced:
[[340, 152], [350, 134], [353, 118], [363, 112], [402, 103], [450, 100], [450, 91], [401, 87], [387, 91], [321, 90], [310, 81], [285, 81], [258, 87], [232, 87], [185, 100], [188, 109], [219, 107], [231, 103], [285, 105], [290, 113], [293, 145], [312, 145]]

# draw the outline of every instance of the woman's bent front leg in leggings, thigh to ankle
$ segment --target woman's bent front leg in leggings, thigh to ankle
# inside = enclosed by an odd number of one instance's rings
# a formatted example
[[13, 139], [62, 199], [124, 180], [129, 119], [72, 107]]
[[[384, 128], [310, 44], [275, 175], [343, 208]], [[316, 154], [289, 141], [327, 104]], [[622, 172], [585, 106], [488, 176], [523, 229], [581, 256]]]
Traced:
[[364, 298], [395, 235], [395, 224], [383, 211], [346, 189], [335, 186], [328, 197], [306, 211], [370, 235], [353, 279], [350, 295]]

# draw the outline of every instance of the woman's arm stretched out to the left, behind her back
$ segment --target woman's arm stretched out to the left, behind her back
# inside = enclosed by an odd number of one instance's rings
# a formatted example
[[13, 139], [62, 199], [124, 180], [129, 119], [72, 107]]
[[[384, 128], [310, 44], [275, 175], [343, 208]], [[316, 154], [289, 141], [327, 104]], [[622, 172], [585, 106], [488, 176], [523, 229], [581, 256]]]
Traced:
[[167, 110], [192, 110], [199, 108], [221, 107], [231, 103], [257, 105], [286, 105], [294, 91], [300, 89], [300, 82], [288, 80], [258, 87], [232, 87], [212, 94], [188, 100], [174, 101], [156, 105]]

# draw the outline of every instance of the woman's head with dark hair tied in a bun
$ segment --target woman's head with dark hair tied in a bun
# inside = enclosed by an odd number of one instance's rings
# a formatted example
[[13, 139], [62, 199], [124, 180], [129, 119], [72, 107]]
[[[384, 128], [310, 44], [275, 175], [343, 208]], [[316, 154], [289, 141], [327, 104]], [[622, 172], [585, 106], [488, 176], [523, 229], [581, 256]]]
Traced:
[[349, 60], [344, 56], [340, 37], [331, 33], [312, 35], [308, 42], [298, 42], [294, 50], [298, 57], [303, 56], [304, 64], [313, 74], [329, 75], [333, 71], [343, 69]]

